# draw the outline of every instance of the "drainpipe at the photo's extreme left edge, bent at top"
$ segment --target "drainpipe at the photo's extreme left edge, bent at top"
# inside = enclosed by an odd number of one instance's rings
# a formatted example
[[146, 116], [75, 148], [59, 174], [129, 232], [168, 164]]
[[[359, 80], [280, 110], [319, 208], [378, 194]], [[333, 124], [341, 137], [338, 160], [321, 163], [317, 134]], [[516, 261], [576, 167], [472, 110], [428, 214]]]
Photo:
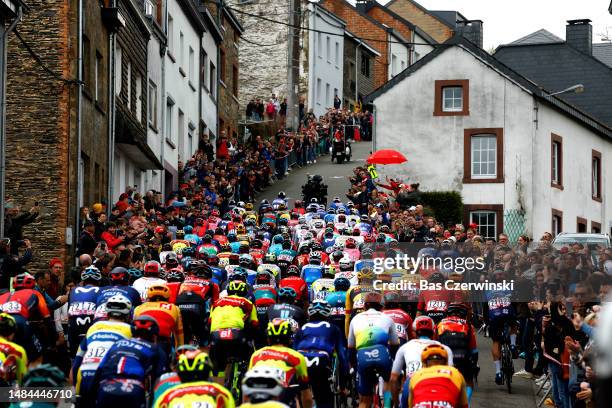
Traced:
[[7, 59], [7, 38], [8, 35], [15, 29], [17, 24], [21, 21], [23, 16], [23, 10], [21, 6], [17, 9], [17, 18], [15, 18], [11, 24], [4, 29], [0, 28], [0, 237], [4, 236], [4, 203], [5, 201], [5, 171], [6, 171], [6, 59]]

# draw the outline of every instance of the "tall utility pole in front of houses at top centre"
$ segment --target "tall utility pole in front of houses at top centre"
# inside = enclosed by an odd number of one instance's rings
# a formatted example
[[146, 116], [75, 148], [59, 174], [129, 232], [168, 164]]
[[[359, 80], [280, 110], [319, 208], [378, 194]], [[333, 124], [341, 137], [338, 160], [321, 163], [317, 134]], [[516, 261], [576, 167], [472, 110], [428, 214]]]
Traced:
[[289, 35], [287, 37], [287, 127], [298, 131], [300, 118], [300, 27], [301, 0], [289, 0]]

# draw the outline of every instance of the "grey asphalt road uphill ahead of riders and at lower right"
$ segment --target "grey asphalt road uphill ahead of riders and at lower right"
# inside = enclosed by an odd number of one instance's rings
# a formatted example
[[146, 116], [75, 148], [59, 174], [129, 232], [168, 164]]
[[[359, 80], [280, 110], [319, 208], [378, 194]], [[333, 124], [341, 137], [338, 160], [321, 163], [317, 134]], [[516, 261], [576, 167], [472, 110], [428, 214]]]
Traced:
[[[274, 185], [258, 196], [258, 200], [263, 198], [270, 202], [279, 191], [284, 191], [290, 199], [289, 205], [293, 205], [295, 199], [302, 198], [302, 185], [306, 182], [308, 174], [319, 174], [323, 176], [324, 182], [328, 185], [328, 200], [339, 196], [343, 201], [346, 200], [348, 190], [348, 177], [352, 175], [356, 166], [363, 165], [365, 159], [370, 154], [371, 143], [354, 143], [353, 159], [349, 163], [332, 163], [329, 156], [322, 156], [316, 164], [303, 168], [294, 168], [288, 177], [279, 180]], [[491, 340], [483, 336], [478, 337], [478, 349], [480, 352], [480, 374], [475, 392], [472, 396], [471, 408], [531, 408], [535, 407], [535, 397], [533, 395], [532, 381], [514, 377], [512, 381], [512, 394], [508, 394], [505, 386], [495, 384], [495, 368], [491, 358]], [[523, 368], [523, 360], [514, 360], [515, 371]]]

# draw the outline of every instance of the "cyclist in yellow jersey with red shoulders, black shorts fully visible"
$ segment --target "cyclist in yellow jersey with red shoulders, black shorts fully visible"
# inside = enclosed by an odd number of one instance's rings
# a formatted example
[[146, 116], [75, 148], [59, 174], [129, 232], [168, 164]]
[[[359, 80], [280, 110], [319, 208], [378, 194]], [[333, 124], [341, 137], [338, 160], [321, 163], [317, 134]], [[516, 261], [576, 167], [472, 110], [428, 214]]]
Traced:
[[[246, 298], [247, 284], [230, 281], [227, 296], [219, 298], [210, 312], [210, 358], [216, 372], [229, 373], [229, 358], [248, 358], [248, 341], [255, 336], [259, 320], [253, 303]], [[227, 377], [226, 377], [227, 378]]]

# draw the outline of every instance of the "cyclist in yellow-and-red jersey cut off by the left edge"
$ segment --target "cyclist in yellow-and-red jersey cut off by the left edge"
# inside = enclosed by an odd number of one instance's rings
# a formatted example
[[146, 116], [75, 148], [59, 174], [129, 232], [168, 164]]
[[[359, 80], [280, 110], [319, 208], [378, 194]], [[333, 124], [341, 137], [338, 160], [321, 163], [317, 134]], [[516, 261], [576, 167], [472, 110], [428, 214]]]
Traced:
[[0, 384], [21, 384], [28, 367], [28, 356], [23, 347], [13, 343], [17, 322], [8, 313], [0, 313]]

